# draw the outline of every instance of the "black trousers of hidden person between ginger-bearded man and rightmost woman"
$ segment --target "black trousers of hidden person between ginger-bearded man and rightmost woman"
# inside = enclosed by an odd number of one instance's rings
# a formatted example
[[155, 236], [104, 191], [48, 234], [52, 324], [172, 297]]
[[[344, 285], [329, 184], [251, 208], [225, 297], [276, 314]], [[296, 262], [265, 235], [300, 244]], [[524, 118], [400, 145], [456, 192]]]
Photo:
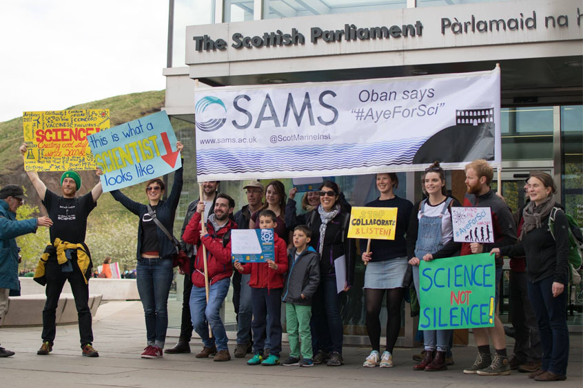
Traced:
[[510, 271], [510, 315], [514, 327], [514, 356], [521, 364], [540, 363], [542, 349], [536, 316], [526, 286], [526, 272]]

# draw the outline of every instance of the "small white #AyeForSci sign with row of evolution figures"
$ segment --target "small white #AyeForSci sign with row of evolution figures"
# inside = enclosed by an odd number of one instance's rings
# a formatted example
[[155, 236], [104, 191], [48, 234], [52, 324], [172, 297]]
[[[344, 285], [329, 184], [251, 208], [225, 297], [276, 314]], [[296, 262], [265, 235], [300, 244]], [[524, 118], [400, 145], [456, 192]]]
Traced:
[[453, 207], [453, 241], [493, 243], [494, 230], [492, 229], [492, 212], [489, 207]]

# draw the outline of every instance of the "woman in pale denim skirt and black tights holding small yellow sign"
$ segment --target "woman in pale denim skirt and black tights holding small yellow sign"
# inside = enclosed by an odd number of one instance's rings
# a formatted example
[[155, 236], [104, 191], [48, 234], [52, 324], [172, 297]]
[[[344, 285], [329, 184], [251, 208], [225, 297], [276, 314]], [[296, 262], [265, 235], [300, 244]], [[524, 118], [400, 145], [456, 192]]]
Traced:
[[[365, 206], [376, 208], [397, 208], [397, 225], [394, 240], [371, 240], [367, 252], [367, 241], [360, 241], [362, 261], [367, 265], [365, 271], [365, 306], [367, 310], [367, 332], [371, 341], [371, 354], [362, 364], [363, 367], [390, 368], [393, 366], [393, 347], [401, 328], [401, 303], [405, 294], [403, 279], [407, 272], [407, 244], [405, 232], [409, 226], [413, 204], [395, 195], [399, 186], [396, 173], [376, 175], [378, 199]], [[382, 298], [387, 294], [387, 343], [380, 354], [380, 310]]]

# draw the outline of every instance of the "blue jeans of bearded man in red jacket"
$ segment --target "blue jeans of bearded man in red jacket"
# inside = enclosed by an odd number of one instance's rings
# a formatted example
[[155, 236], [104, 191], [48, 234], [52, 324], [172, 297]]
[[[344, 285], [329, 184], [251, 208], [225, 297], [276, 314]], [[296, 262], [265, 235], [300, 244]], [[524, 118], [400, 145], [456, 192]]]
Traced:
[[[192, 285], [192, 292], [190, 293], [190, 316], [192, 317], [192, 327], [194, 331], [201, 336], [205, 347], [213, 347], [216, 345], [217, 350], [228, 350], [227, 332], [225, 325], [221, 321], [221, 305], [227, 297], [229, 292], [229, 285], [231, 279], [226, 277], [209, 287], [209, 302], [204, 287], [196, 287]], [[209, 338], [210, 325], [213, 337]]]

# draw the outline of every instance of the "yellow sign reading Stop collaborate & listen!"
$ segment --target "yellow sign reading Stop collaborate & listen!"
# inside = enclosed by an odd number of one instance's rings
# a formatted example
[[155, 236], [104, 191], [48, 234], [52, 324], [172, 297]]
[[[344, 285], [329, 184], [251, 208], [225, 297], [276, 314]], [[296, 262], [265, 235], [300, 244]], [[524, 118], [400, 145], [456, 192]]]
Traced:
[[397, 208], [354, 206], [350, 213], [348, 237], [351, 239], [394, 240]]

